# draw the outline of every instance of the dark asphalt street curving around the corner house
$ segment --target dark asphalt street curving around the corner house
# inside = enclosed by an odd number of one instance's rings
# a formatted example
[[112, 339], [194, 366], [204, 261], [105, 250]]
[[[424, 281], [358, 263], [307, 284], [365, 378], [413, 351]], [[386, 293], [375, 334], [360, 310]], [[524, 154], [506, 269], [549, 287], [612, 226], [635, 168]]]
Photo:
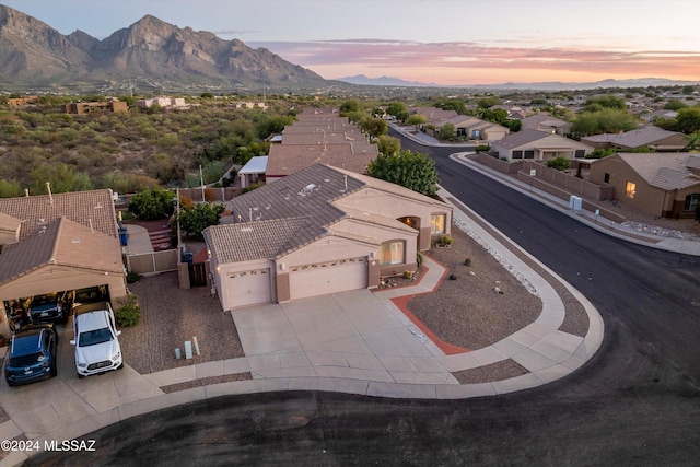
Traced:
[[27, 465], [697, 465], [700, 258], [604, 235], [448, 159], [441, 185], [562, 276], [603, 315], [580, 371], [504, 396], [427, 401], [343, 394], [231, 396], [85, 439], [95, 453]]

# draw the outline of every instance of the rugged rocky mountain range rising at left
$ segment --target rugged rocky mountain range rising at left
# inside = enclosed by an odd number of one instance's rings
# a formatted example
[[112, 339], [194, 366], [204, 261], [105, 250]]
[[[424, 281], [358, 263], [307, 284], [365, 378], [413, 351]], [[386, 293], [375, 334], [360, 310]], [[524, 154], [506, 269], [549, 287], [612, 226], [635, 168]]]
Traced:
[[303, 90], [329, 82], [265, 48], [147, 15], [102, 40], [0, 4], [0, 89]]

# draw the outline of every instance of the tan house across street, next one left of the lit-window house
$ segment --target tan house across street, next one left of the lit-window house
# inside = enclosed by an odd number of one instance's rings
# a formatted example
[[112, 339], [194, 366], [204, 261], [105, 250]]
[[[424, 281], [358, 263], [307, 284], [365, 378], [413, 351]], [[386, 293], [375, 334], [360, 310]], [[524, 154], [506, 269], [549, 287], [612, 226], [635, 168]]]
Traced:
[[556, 157], [583, 159], [593, 148], [552, 132], [522, 130], [491, 143], [490, 154], [500, 160], [530, 159], [549, 161]]

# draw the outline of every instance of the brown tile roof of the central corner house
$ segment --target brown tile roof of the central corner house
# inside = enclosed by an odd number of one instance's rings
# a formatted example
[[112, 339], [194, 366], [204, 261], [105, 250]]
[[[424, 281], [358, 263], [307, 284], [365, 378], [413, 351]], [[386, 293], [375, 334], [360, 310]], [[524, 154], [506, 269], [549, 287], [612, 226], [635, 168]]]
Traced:
[[388, 182], [315, 164], [231, 200], [236, 223], [208, 227], [205, 240], [215, 262], [225, 264], [278, 258], [326, 235], [372, 242], [338, 225], [345, 219], [416, 232], [396, 219], [341, 206], [346, 197], [368, 188], [443, 205]]

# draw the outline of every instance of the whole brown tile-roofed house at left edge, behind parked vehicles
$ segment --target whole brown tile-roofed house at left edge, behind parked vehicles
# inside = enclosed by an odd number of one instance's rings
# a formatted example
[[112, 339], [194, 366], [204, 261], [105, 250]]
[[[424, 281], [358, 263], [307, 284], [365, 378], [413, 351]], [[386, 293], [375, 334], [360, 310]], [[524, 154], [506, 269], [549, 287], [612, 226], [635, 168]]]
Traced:
[[126, 295], [112, 190], [0, 199], [0, 241], [5, 311], [14, 301], [91, 287], [113, 300]]

